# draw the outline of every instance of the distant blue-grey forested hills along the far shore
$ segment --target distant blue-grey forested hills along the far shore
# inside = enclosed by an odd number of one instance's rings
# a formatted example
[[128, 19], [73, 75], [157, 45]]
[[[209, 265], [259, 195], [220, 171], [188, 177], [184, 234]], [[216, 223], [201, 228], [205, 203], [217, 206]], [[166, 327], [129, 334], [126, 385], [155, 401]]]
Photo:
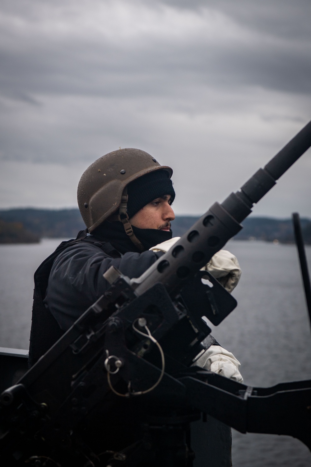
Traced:
[[[79, 230], [85, 228], [78, 209], [7, 209], [0, 210], [0, 219], [22, 224], [28, 233], [34, 235], [34, 241], [37, 237], [75, 238]], [[173, 235], [181, 236], [197, 219], [199, 218], [194, 216], [176, 216], [172, 222]], [[249, 217], [242, 224], [244, 228], [235, 236], [236, 240], [278, 240], [283, 243], [292, 243], [294, 240], [291, 219]], [[311, 245], [311, 220], [303, 218], [301, 224], [304, 241]], [[17, 242], [21, 241], [19, 237]]]

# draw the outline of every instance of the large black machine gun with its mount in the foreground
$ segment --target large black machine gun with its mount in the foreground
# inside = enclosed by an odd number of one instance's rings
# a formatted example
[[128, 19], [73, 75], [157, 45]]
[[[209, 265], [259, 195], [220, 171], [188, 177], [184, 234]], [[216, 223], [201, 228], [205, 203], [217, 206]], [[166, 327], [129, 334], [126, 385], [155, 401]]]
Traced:
[[[200, 269], [310, 146], [311, 122], [142, 276], [129, 280], [113, 267], [104, 274], [104, 295], [1, 394], [2, 465], [190, 467], [189, 423], [202, 411], [311, 449], [311, 381], [253, 388], [194, 365], [214, 343], [202, 317], [219, 325], [236, 306]], [[122, 432], [131, 417], [137, 432]], [[94, 426], [101, 451], [88, 436]]]

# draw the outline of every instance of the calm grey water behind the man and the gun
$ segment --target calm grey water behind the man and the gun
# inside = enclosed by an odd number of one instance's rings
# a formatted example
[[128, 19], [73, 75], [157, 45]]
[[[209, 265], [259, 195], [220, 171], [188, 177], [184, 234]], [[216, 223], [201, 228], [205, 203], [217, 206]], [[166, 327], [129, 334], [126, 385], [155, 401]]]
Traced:
[[[0, 347], [28, 348], [33, 274], [60, 243], [0, 246]], [[241, 362], [244, 382], [311, 379], [311, 333], [294, 246], [230, 241], [242, 268], [238, 307], [214, 337]], [[311, 248], [307, 247], [309, 265]], [[212, 327], [212, 326], [211, 326]], [[286, 436], [233, 432], [234, 467], [309, 467], [311, 453]]]

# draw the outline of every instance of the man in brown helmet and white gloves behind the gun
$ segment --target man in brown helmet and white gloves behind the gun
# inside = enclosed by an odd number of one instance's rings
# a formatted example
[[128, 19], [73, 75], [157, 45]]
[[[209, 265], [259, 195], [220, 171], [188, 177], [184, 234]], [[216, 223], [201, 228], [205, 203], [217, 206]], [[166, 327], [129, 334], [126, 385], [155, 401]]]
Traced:
[[[62, 242], [35, 273], [30, 365], [103, 295], [110, 286], [103, 277], [107, 269], [115, 266], [124, 276], [139, 277], [178, 240], [172, 239], [171, 230], [172, 173], [138, 149], [113, 151], [84, 172], [77, 195], [87, 229], [76, 240]], [[205, 268], [229, 291], [240, 276], [236, 258], [226, 251], [214, 255]], [[240, 363], [219, 345], [207, 349], [195, 364], [242, 382]], [[124, 412], [119, 419], [111, 414], [114, 432], [128, 443], [136, 436], [134, 425], [126, 430], [133, 422], [130, 415], [124, 423]], [[106, 439], [109, 435], [105, 433]], [[107, 441], [109, 446], [114, 442]]]

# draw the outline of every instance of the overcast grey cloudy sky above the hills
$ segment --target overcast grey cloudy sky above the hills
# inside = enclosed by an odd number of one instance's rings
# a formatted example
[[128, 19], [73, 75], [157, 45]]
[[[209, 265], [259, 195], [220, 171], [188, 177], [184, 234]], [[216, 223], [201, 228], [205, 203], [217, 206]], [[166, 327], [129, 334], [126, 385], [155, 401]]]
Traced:
[[[0, 0], [0, 207], [76, 206], [119, 146], [171, 165], [179, 214], [311, 119], [310, 0]], [[255, 207], [311, 217], [308, 151]]]

